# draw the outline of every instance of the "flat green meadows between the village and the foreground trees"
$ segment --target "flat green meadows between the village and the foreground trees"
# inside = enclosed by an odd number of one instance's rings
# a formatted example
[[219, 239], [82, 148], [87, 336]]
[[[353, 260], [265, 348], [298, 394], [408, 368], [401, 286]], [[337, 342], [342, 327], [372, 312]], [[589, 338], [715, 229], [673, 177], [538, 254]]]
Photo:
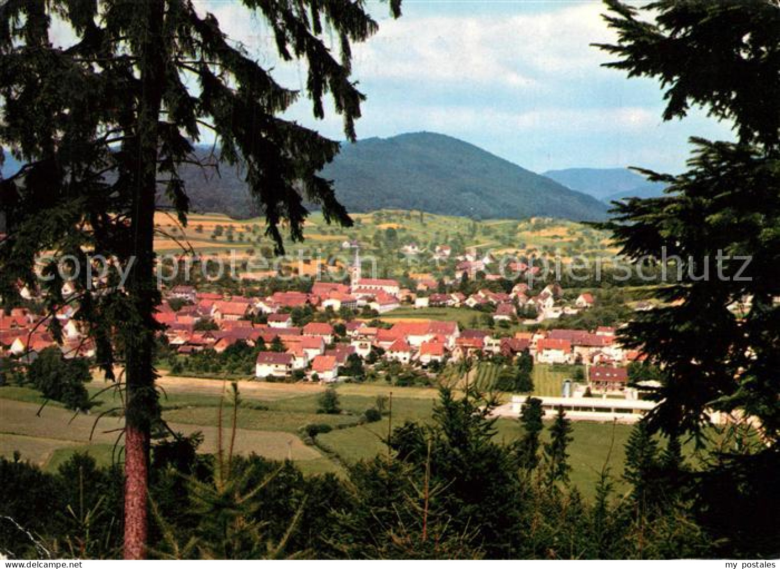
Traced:
[[[554, 369], [537, 366], [537, 394], [558, 394], [560, 375]], [[477, 375], [480, 372], [477, 371]], [[485, 372], [485, 373], [489, 373]], [[181, 433], [204, 434], [201, 451], [214, 452], [218, 440], [220, 401], [229, 387], [224, 380], [163, 376], [159, 386], [164, 393], [164, 417], [172, 429]], [[73, 415], [55, 402], [41, 408], [43, 401], [35, 391], [23, 387], [0, 387], [0, 454], [19, 451], [46, 469], [55, 469], [75, 451], [87, 451], [101, 463], [119, 458], [115, 447], [122, 420], [101, 413], [119, 405], [119, 395], [111, 390], [99, 393], [106, 385], [95, 380], [89, 386], [101, 405], [91, 415]], [[358, 425], [359, 416], [374, 406], [378, 395], [392, 393], [392, 426], [406, 420], [431, 419], [438, 392], [424, 387], [392, 387], [385, 383], [343, 383], [339, 385], [342, 415], [317, 414], [317, 396], [323, 387], [309, 383], [239, 382], [242, 403], [236, 416], [236, 449], [255, 452], [267, 458], [290, 458], [304, 473], [341, 473], [343, 465], [385, 453], [383, 437], [390, 418]], [[225, 433], [230, 413], [225, 412]], [[328, 424], [329, 433], [316, 437], [315, 445], [303, 443], [300, 428], [308, 424]], [[497, 437], [509, 442], [522, 429], [514, 419], [498, 419]], [[573, 423], [574, 440], [569, 449], [572, 482], [586, 496], [592, 496], [598, 473], [610, 468], [622, 489], [623, 447], [629, 426], [610, 423]]]

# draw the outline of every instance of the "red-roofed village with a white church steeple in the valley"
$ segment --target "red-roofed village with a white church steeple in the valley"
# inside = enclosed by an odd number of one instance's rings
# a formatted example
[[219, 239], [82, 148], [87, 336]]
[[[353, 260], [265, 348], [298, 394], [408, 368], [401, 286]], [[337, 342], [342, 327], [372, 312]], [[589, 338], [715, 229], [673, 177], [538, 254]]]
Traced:
[[[434, 252], [441, 258], [449, 255], [447, 246], [437, 247]], [[471, 253], [454, 261], [459, 278], [464, 274], [473, 278], [477, 271], [495, 263]], [[596, 301], [590, 292], [582, 292], [573, 302], [567, 302], [561, 285], [556, 283], [533, 292], [523, 281], [530, 269], [520, 264], [510, 267], [520, 276], [510, 292], [479, 288], [466, 296], [458, 291], [438, 292], [441, 285], [429, 277], [418, 279], [414, 289], [403, 288], [391, 278], [363, 277], [356, 253], [349, 281], [313, 281], [305, 292], [289, 290], [248, 297], [204, 292], [194, 285], [164, 288], [164, 300], [155, 319], [161, 327], [161, 345], [170, 355], [168, 360], [174, 362], [174, 375], [182, 369], [192, 370], [187, 366], [188, 359], [208, 358], [209, 354], [218, 357], [243, 348], [254, 357], [250, 376], [255, 380], [335, 383], [362, 380], [365, 370], [383, 369], [378, 375], [388, 382], [389, 374], [409, 370], [433, 384], [444, 369], [463, 369], [464, 364], [473, 366], [474, 362], [496, 359], [511, 365], [520, 355], [527, 355], [543, 366], [569, 366], [574, 370], [556, 395], [638, 400], [639, 392], [629, 388], [628, 366], [640, 355], [622, 348], [615, 327], [523, 329], [524, 324], [587, 311]], [[491, 274], [481, 277], [483, 281], [495, 280]], [[72, 293], [63, 291], [66, 298]], [[23, 297], [35, 299], [27, 289]], [[431, 307], [472, 310], [477, 325], [465, 327], [456, 320], [414, 317]], [[383, 318], [397, 309], [406, 309], [411, 316]], [[37, 353], [55, 345], [48, 331], [48, 319], [55, 318], [62, 330], [59, 348], [63, 355], [93, 358], [94, 345], [85, 338], [75, 313], [76, 307], [68, 305], [48, 317], [27, 308], [0, 315], [0, 355], [33, 361]], [[388, 370], [390, 364], [394, 366], [392, 371]], [[652, 406], [644, 403], [620, 418], [636, 419], [633, 415]], [[553, 412], [554, 407], [548, 405], [549, 411]], [[517, 413], [519, 408], [512, 405], [509, 412]], [[618, 416], [609, 407], [598, 410], [604, 412], [583, 418], [608, 420]], [[576, 413], [573, 416], [577, 418]]]

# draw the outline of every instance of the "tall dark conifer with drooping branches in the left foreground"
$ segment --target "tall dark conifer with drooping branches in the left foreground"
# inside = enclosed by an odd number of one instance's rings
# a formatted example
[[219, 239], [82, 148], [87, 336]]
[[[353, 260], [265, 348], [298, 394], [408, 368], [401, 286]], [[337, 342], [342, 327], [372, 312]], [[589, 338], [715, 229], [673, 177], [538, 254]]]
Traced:
[[[354, 140], [363, 94], [351, 79], [351, 46], [377, 30], [362, 1], [237, 0], [257, 17], [282, 61], [300, 60], [303, 91], [283, 87], [204, 3], [191, 0], [9, 0], [0, 6], [0, 145], [24, 165], [0, 182], [6, 239], [0, 295], [38, 285], [47, 308], [73, 302], [97, 361], [125, 391], [125, 556], [144, 556], [150, 432], [159, 420], [154, 387], [155, 204], [165, 195], [181, 224], [189, 199], [179, 166], [197, 163], [206, 131], [218, 156], [240, 165], [282, 249], [282, 226], [303, 238], [304, 200], [328, 221], [350, 224], [331, 182], [317, 172], [339, 144], [279, 118], [301, 97], [324, 116], [326, 97]], [[400, 0], [390, 0], [393, 16]], [[68, 30], [71, 41], [55, 43]], [[332, 41], [333, 46], [329, 45]], [[109, 260], [107, 277], [87, 255]], [[62, 296], [57, 260], [80, 265], [76, 293]], [[103, 287], [101, 294], [94, 286]], [[51, 319], [55, 338], [61, 338]], [[115, 364], [122, 376], [115, 378]]]

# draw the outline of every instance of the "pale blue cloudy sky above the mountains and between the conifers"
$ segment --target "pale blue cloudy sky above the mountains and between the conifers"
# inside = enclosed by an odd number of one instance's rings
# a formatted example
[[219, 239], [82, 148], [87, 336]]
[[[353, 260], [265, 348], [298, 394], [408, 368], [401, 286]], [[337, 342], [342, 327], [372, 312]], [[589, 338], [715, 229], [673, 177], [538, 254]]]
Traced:
[[[233, 0], [194, 0], [277, 80], [303, 90], [303, 64], [278, 60], [268, 28]], [[678, 173], [690, 136], [732, 138], [694, 110], [663, 122], [655, 80], [605, 69], [591, 43], [615, 36], [595, 0], [404, 0], [403, 16], [367, 0], [378, 34], [353, 48], [353, 79], [367, 95], [359, 139], [429, 131], [455, 136], [533, 171], [639, 166]], [[342, 121], [311, 104], [286, 113], [343, 140]]]

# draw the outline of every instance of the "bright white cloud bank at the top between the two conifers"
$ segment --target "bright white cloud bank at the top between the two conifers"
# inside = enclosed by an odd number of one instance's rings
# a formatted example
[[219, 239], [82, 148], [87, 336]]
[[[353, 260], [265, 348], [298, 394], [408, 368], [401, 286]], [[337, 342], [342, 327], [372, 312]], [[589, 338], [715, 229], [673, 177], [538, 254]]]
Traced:
[[544, 88], [550, 77], [592, 75], [604, 56], [592, 42], [611, 41], [597, 3], [516, 16], [428, 16], [382, 23], [356, 49], [367, 79], [488, 83]]

